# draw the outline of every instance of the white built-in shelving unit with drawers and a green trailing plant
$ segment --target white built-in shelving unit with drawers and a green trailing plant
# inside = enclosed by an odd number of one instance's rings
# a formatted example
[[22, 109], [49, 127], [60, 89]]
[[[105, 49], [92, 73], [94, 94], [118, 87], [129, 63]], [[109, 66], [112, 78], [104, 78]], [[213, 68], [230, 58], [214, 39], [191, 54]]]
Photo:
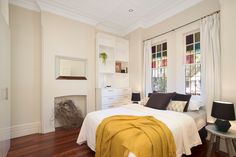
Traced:
[[96, 109], [127, 104], [130, 102], [130, 95], [129, 41], [97, 33]]

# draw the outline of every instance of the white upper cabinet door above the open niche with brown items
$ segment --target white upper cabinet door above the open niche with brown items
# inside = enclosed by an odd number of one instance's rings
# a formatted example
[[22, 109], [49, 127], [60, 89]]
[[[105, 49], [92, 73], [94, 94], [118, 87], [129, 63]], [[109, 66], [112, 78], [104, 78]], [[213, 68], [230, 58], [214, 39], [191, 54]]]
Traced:
[[124, 39], [117, 38], [115, 46], [115, 60], [129, 61], [129, 42]]

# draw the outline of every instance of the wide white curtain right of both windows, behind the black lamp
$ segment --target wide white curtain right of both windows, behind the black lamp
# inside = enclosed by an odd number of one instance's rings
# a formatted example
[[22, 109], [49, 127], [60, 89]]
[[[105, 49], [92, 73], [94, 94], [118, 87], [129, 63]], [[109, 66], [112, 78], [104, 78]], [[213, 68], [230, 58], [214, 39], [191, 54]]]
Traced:
[[220, 15], [214, 14], [200, 22], [202, 53], [202, 98], [206, 106], [207, 121], [212, 122], [214, 100], [221, 99]]

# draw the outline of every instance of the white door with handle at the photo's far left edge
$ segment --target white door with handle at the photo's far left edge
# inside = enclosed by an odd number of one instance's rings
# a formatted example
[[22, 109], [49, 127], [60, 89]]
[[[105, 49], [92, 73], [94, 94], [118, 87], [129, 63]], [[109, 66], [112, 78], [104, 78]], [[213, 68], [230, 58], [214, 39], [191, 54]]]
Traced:
[[0, 157], [10, 148], [10, 30], [0, 13]]

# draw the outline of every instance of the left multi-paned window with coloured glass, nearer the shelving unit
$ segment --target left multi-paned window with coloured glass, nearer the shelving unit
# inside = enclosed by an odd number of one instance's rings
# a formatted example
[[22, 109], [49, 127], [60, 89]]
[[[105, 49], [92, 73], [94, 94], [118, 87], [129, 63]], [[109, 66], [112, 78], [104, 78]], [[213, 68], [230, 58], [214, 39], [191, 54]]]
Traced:
[[152, 90], [167, 90], [167, 42], [152, 46]]

